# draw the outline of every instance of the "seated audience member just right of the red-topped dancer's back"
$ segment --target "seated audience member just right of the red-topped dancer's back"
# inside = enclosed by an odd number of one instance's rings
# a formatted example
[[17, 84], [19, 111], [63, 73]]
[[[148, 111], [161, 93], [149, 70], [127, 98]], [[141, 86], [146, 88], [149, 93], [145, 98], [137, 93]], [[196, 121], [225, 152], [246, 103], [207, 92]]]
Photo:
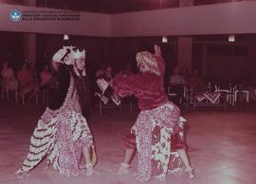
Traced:
[[174, 67], [173, 75], [170, 76], [169, 88], [171, 92], [177, 94], [177, 104], [180, 102], [185, 102], [184, 98], [184, 86], [186, 85], [186, 80], [183, 75], [180, 74], [180, 71], [177, 66]]

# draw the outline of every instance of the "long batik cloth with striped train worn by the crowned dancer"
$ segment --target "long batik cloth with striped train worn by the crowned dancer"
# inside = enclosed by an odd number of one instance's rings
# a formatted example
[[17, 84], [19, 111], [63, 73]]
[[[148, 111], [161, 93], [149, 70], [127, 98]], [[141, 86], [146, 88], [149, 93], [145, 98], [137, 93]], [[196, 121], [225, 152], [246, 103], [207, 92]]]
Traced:
[[46, 108], [30, 139], [27, 159], [16, 172], [33, 169], [45, 156], [54, 169], [65, 176], [78, 176], [83, 146], [93, 146], [93, 137], [82, 116], [79, 97], [71, 76], [64, 104], [60, 109]]

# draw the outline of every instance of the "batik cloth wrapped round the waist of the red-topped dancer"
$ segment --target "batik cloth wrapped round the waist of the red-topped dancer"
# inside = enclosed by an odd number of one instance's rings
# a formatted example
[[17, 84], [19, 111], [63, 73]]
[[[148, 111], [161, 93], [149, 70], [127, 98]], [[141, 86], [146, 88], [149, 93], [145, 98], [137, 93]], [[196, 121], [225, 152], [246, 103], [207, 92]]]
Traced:
[[166, 174], [171, 154], [171, 134], [175, 132], [180, 111], [173, 103], [141, 110], [137, 117], [137, 180]]

